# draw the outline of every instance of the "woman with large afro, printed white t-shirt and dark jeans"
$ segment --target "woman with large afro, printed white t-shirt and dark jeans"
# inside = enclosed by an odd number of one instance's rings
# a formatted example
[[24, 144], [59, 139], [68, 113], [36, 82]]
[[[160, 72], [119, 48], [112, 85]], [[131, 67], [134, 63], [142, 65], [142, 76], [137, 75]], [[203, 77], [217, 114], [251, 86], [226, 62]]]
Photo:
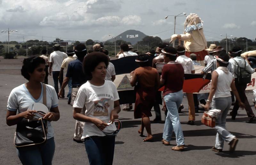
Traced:
[[[108, 125], [118, 118], [119, 96], [112, 81], [104, 80], [108, 67], [108, 57], [101, 52], [85, 56], [83, 69], [88, 81], [78, 90], [73, 117], [85, 122], [81, 139], [84, 139], [86, 153], [91, 165], [112, 164], [115, 150], [115, 136], [106, 136], [116, 130], [115, 124]], [[86, 106], [85, 115], [80, 114]]]

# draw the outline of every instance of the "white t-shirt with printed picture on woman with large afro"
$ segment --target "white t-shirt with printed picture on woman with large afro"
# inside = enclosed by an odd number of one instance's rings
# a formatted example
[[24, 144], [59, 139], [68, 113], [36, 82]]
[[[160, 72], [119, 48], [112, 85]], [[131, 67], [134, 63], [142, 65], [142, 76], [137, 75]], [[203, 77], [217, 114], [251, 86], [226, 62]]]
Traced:
[[[101, 86], [92, 85], [87, 81], [79, 88], [73, 107], [83, 108], [85, 105], [85, 116], [98, 118], [108, 123], [116, 100], [119, 100], [119, 96], [112, 81], [105, 80]], [[115, 130], [116, 125], [110, 124], [103, 131], [110, 133]], [[95, 124], [85, 122], [81, 139], [90, 136], [105, 136], [105, 134]]]

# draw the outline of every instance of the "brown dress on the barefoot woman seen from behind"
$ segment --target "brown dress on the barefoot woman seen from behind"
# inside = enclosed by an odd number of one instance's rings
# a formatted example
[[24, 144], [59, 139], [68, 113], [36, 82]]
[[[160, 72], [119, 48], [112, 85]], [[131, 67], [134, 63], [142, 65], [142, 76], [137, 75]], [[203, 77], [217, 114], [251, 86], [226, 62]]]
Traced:
[[139, 67], [134, 70], [137, 74], [136, 101], [134, 118], [150, 117], [151, 109], [156, 101], [156, 80], [158, 72], [153, 67]]

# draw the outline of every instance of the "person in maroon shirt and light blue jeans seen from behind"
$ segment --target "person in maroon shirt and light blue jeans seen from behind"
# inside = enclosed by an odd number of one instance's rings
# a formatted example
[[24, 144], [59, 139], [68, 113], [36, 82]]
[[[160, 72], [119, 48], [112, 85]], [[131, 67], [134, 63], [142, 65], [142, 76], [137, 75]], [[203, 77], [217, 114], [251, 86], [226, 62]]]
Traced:
[[176, 61], [177, 51], [175, 48], [168, 46], [162, 52], [164, 53], [164, 62], [167, 64], [163, 67], [160, 83], [164, 85], [163, 95], [168, 111], [162, 142], [164, 145], [170, 145], [174, 130], [177, 145], [172, 147], [172, 150], [181, 151], [184, 149], [185, 143], [178, 108], [183, 99], [184, 68]]

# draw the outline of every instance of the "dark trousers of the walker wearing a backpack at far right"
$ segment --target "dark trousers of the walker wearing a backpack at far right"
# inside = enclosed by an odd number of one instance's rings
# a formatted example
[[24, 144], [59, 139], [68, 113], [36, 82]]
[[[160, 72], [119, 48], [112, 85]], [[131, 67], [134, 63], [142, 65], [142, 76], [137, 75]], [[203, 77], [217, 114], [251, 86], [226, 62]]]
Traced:
[[[255, 115], [253, 114], [252, 108], [251, 108], [251, 106], [248, 102], [248, 99], [247, 99], [246, 95], [245, 95], [245, 89], [247, 87], [247, 84], [238, 84], [238, 79], [236, 78], [235, 79], [235, 85], [236, 85], [236, 90], [239, 94], [239, 97], [245, 105], [245, 111], [246, 111], [249, 119], [252, 119]], [[234, 105], [233, 110], [232, 110], [232, 118], [236, 117], [238, 108], [239, 108], [239, 105], [238, 105], [238, 101], [236, 99], [235, 105]]]

